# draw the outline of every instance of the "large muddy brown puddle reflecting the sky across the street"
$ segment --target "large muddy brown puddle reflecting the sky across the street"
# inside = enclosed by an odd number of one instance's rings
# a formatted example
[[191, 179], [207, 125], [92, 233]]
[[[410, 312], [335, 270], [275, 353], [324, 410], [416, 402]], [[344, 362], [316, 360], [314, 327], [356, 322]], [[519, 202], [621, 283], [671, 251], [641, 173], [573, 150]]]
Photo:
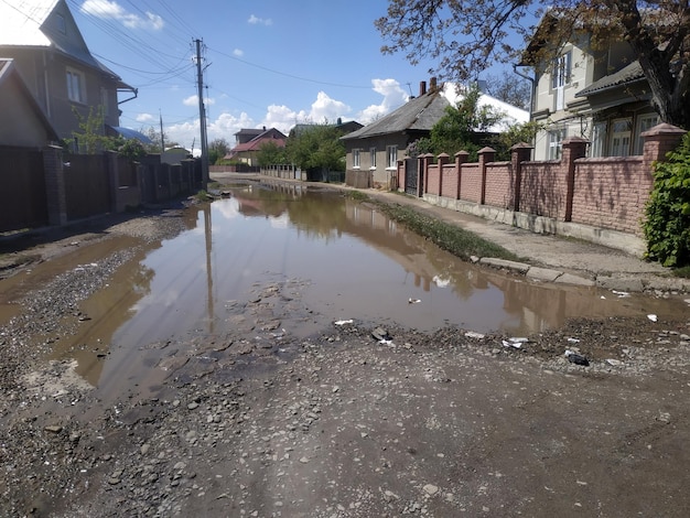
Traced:
[[[101, 389], [153, 374], [185, 339], [306, 336], [328, 321], [525, 335], [572, 316], [668, 313], [671, 303], [535, 284], [457, 260], [374, 207], [300, 185], [235, 186], [196, 227], [120, 269], [83, 304], [55, 357]], [[172, 344], [172, 345], [171, 345]]]

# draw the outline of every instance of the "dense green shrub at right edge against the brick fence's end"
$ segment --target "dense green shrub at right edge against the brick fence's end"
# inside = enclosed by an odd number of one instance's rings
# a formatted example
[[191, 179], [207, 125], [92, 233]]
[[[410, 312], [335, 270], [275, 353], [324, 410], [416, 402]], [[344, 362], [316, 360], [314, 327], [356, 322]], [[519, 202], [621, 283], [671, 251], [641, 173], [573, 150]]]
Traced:
[[665, 267], [690, 265], [690, 133], [655, 164], [645, 215], [647, 258]]

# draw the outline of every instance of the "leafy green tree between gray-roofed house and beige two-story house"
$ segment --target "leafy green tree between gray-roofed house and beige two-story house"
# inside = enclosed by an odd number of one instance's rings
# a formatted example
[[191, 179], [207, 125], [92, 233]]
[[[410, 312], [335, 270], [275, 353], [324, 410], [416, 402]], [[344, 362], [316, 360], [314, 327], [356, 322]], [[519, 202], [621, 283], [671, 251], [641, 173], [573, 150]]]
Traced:
[[445, 115], [431, 129], [428, 138], [420, 139], [417, 149], [420, 153], [434, 155], [467, 151], [470, 160], [477, 159], [477, 151], [490, 143], [487, 131], [504, 118], [504, 114], [492, 106], [479, 106], [482, 93], [475, 85], [465, 91], [456, 106], [445, 108]]

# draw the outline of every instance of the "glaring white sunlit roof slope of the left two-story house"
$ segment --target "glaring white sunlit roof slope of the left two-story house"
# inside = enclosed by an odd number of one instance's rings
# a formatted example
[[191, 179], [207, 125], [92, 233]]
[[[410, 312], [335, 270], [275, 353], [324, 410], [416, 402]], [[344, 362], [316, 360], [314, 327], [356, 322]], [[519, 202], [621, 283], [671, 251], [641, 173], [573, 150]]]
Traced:
[[0, 1], [0, 45], [50, 46], [41, 25], [58, 0]]

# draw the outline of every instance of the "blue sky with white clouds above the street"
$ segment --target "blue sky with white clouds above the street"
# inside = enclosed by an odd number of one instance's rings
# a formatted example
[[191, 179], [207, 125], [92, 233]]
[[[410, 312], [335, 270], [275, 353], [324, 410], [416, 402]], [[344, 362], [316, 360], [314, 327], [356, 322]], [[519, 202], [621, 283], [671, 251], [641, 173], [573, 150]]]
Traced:
[[[417, 95], [431, 63], [384, 56], [386, 0], [67, 0], [94, 54], [139, 89], [120, 125], [198, 147], [193, 41], [203, 40], [208, 140], [241, 128], [368, 123]], [[127, 95], [120, 97], [120, 100]]]

